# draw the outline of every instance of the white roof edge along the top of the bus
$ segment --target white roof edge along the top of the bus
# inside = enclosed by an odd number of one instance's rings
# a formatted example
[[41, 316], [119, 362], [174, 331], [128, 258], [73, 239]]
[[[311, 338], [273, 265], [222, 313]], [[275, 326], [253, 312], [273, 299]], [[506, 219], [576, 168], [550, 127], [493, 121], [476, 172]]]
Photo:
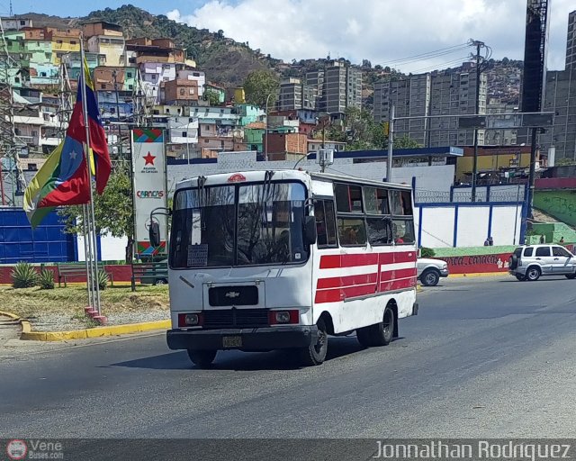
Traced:
[[[277, 169], [271, 170], [275, 173], [274, 179], [283, 180], [305, 180], [305, 178], [311, 178], [317, 181], [329, 181], [329, 182], [347, 182], [357, 185], [372, 185], [374, 187], [386, 186], [392, 189], [405, 189], [411, 190], [411, 185], [398, 184], [398, 183], [385, 183], [381, 181], [374, 181], [374, 179], [365, 179], [358, 176], [347, 176], [347, 175], [333, 175], [331, 173], [318, 173], [309, 172], [303, 170], [295, 169]], [[212, 175], [205, 175], [206, 183], [205, 185], [219, 185], [219, 184], [234, 184], [242, 182], [258, 182], [264, 181], [266, 178], [266, 170], [252, 170], [252, 171], [238, 171], [230, 173], [215, 173]], [[187, 179], [179, 181], [175, 188], [180, 189], [184, 187], [195, 187], [198, 184], [198, 176], [193, 176]]]

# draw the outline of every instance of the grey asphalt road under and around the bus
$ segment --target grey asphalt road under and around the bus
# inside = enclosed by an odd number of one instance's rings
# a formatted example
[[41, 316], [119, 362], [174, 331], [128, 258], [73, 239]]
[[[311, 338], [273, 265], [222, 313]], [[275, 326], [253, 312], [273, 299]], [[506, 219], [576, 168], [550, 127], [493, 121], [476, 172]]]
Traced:
[[163, 335], [4, 355], [0, 438], [576, 437], [576, 281], [450, 279], [419, 303], [390, 346], [330, 338], [310, 368], [200, 370]]

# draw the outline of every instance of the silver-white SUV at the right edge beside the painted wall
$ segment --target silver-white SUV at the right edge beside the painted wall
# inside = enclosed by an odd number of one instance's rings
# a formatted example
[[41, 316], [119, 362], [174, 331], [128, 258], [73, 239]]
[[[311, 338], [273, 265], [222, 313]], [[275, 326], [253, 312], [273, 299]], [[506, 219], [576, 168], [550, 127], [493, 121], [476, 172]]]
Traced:
[[560, 245], [518, 247], [509, 258], [509, 273], [518, 280], [536, 281], [540, 276], [576, 278], [576, 257]]

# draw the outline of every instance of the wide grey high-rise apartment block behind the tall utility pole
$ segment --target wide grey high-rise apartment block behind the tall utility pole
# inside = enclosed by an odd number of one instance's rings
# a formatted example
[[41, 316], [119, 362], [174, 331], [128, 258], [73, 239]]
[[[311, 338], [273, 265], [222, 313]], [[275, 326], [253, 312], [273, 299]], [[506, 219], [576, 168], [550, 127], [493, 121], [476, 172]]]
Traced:
[[[458, 116], [476, 113], [476, 73], [419, 74], [374, 85], [374, 120], [422, 117], [394, 122], [396, 137], [408, 136], [425, 147], [473, 145], [473, 130], [458, 130]], [[478, 113], [486, 113], [487, 78], [481, 76]], [[453, 115], [452, 117], [450, 115]], [[430, 118], [424, 118], [430, 116]], [[437, 117], [435, 117], [437, 116]], [[484, 144], [478, 131], [478, 144]]]

